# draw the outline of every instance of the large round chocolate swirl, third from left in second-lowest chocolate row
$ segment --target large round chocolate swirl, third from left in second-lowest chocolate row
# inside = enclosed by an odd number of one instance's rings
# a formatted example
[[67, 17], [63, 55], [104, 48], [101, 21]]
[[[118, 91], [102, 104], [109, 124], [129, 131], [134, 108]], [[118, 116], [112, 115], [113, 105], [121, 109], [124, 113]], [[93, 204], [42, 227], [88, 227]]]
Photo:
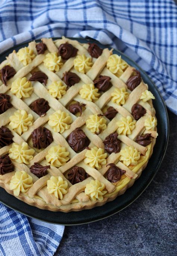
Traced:
[[90, 140], [80, 128], [76, 128], [68, 136], [68, 144], [75, 151], [83, 151], [90, 144]]

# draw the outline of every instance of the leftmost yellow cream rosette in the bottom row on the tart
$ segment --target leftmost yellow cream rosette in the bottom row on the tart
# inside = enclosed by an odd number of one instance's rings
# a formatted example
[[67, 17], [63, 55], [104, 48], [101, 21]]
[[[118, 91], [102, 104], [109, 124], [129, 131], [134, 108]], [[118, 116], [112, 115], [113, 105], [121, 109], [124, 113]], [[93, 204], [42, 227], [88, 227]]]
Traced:
[[13, 190], [15, 196], [19, 196], [20, 192], [27, 192], [32, 185], [32, 177], [28, 175], [28, 173], [25, 171], [17, 171], [10, 180], [9, 188]]

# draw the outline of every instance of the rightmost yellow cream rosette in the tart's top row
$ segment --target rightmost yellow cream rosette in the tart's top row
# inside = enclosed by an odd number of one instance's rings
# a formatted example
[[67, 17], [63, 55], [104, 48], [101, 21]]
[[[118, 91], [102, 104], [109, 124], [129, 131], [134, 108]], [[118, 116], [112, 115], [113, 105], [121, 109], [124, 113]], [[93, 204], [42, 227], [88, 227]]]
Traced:
[[112, 54], [107, 60], [106, 67], [117, 77], [120, 77], [124, 73], [125, 69], [128, 67], [128, 64], [121, 59], [121, 56], [118, 56], [117, 54]]

